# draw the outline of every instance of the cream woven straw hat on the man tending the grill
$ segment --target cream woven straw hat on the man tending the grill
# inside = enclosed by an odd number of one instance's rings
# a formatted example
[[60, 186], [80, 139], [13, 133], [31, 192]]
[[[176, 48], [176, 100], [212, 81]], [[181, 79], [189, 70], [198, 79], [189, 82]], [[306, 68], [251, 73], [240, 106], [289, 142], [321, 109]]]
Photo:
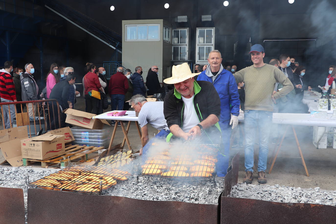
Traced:
[[173, 65], [172, 77], [163, 80], [163, 82], [166, 84], [175, 84], [190, 79], [198, 74], [200, 74], [200, 72], [192, 73], [189, 65], [184, 62], [183, 64]]

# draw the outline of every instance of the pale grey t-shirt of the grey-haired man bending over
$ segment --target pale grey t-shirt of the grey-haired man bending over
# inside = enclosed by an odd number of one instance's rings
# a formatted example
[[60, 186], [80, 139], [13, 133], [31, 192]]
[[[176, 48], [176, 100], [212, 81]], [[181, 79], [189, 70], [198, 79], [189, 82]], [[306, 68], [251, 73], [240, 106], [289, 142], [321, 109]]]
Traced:
[[162, 129], [169, 131], [163, 114], [163, 101], [146, 102], [143, 104], [138, 115], [138, 122], [141, 128], [146, 124], [150, 124], [153, 128], [160, 131]]

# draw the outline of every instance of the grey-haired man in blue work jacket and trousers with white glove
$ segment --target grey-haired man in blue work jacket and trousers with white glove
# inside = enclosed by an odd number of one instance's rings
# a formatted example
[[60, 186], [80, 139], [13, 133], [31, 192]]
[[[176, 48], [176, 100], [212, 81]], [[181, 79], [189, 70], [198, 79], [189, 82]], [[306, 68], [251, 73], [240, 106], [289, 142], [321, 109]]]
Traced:
[[[221, 54], [218, 50], [212, 50], [208, 58], [209, 65], [198, 77], [197, 81], [211, 82], [220, 98], [220, 119], [219, 126], [222, 131], [222, 139], [224, 145], [225, 156], [218, 154], [217, 159], [217, 176], [225, 176], [228, 168], [230, 137], [232, 129], [238, 125], [239, 115], [239, 93], [235, 77], [229, 71], [225, 70], [222, 62]], [[231, 116], [232, 114], [232, 116]], [[219, 165], [219, 166], [218, 166]]]

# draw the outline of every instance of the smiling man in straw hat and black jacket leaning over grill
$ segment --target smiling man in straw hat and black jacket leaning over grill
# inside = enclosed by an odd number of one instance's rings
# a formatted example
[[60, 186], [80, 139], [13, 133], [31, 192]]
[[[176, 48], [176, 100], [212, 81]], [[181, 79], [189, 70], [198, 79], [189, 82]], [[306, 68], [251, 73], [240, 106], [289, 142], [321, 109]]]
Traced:
[[175, 87], [164, 99], [163, 113], [171, 131], [167, 141], [174, 136], [183, 141], [221, 143], [219, 95], [212, 83], [196, 82], [198, 74], [183, 63], [173, 66], [172, 77], [163, 80]]

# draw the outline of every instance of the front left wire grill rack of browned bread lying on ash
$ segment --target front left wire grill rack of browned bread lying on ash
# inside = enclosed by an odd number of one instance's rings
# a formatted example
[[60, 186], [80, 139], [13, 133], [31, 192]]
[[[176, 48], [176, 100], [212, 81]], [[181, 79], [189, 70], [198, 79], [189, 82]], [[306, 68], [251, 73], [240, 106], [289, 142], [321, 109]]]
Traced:
[[95, 166], [71, 166], [40, 180], [29, 183], [27, 186], [39, 187], [49, 190], [72, 191], [88, 194], [101, 194], [103, 189], [108, 189], [125, 181], [132, 176], [128, 171]]

